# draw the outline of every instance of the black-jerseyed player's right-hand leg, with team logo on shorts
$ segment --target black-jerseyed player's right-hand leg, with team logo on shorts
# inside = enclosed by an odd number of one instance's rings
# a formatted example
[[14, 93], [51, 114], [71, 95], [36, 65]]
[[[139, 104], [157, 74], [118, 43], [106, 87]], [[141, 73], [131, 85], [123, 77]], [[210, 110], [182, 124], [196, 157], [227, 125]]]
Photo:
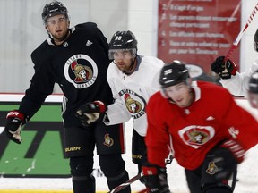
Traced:
[[[95, 138], [100, 168], [107, 177], [108, 188], [115, 189], [116, 186], [129, 180], [125, 161], [121, 155], [125, 153], [124, 125], [106, 126], [99, 122], [95, 130]], [[120, 192], [131, 192], [131, 187], [128, 186]]]

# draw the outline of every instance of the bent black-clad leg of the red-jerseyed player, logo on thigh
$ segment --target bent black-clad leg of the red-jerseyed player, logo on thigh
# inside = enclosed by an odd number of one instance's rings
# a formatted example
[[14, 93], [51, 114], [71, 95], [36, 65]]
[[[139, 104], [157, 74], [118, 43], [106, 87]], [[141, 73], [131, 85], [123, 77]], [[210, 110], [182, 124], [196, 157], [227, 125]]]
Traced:
[[216, 147], [202, 164], [202, 192], [232, 193], [236, 185], [236, 158], [227, 148]]

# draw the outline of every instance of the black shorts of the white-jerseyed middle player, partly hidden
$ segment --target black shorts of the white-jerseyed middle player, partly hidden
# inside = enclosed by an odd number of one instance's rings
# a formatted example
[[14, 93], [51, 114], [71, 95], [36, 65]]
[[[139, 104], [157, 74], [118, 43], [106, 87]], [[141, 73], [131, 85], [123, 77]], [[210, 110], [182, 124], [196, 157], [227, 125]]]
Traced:
[[134, 129], [132, 136], [132, 160], [134, 164], [142, 165], [147, 163], [147, 148], [144, 137], [140, 136]]

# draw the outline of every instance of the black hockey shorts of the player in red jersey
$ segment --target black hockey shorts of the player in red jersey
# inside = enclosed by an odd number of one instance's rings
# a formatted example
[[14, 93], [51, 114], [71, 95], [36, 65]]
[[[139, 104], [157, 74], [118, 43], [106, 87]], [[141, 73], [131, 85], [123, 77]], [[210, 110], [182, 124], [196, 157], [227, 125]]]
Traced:
[[185, 170], [191, 193], [202, 193], [205, 189], [225, 187], [232, 191], [236, 186], [237, 164], [227, 148], [215, 147], [206, 155], [196, 170]]

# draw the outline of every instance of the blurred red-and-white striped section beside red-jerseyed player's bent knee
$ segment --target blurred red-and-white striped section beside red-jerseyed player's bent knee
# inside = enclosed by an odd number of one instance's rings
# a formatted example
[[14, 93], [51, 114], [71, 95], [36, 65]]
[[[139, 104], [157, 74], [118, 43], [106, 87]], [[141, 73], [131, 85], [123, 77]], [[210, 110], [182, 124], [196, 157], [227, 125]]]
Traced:
[[223, 141], [220, 147], [228, 148], [235, 156], [237, 164], [240, 164], [244, 161], [245, 149], [241, 147], [233, 138], [228, 138]]

